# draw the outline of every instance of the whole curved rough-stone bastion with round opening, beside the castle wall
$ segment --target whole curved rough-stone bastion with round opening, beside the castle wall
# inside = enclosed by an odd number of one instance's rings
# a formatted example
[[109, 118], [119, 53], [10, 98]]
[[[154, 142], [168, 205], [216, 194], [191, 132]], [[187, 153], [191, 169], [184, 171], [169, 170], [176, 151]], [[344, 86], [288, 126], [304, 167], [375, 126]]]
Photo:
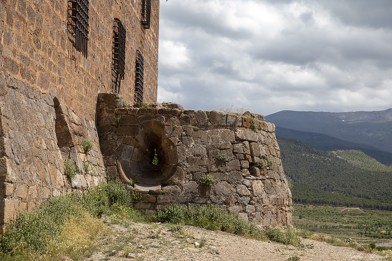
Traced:
[[[138, 108], [143, 105], [122, 108], [121, 96], [98, 95], [106, 173], [138, 180], [134, 207], [216, 204], [265, 228], [291, 225], [291, 192], [274, 124], [253, 113], [184, 110], [175, 103]], [[202, 184], [207, 175], [211, 186]]]

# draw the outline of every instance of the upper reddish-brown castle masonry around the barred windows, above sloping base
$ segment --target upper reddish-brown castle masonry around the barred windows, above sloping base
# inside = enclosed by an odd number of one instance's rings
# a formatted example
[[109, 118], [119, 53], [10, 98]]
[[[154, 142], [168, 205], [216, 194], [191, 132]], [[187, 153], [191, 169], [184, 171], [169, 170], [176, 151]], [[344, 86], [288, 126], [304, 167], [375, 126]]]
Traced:
[[57, 97], [87, 120], [95, 118], [98, 93], [112, 92], [113, 20], [126, 29], [125, 77], [120, 94], [133, 102], [136, 50], [144, 57], [144, 99], [156, 101], [159, 0], [151, 1], [151, 26], [140, 24], [142, 0], [89, 1], [85, 58], [71, 44], [64, 0], [0, 2], [1, 70], [43, 95]]

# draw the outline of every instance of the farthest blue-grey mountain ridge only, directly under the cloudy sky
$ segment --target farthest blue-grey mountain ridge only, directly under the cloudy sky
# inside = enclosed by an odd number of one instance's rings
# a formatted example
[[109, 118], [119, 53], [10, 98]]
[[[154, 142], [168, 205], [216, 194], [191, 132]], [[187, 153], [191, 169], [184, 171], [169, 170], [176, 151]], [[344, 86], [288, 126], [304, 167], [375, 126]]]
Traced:
[[278, 128], [321, 133], [392, 153], [392, 108], [372, 112], [297, 112], [265, 116]]

